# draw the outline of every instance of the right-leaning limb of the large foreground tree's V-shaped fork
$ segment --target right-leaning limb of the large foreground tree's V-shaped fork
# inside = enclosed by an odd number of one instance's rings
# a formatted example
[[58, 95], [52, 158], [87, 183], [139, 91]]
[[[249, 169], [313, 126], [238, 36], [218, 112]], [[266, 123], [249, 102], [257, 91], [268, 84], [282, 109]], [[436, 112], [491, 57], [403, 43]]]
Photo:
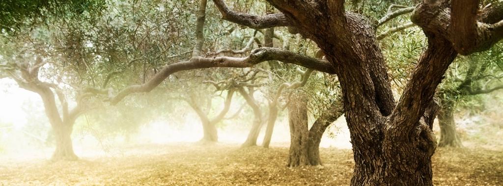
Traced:
[[431, 104], [445, 71], [457, 56], [449, 41], [435, 36], [428, 38], [428, 49], [419, 59], [389, 119], [389, 129], [396, 136], [408, 135], [416, 126]]

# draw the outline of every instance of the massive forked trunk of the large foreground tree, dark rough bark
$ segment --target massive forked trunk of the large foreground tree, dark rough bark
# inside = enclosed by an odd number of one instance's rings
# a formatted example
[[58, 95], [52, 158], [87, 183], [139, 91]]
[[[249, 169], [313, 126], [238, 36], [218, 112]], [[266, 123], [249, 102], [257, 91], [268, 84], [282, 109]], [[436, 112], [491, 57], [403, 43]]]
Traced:
[[[368, 20], [352, 13], [344, 16], [337, 2], [326, 2], [327, 8], [320, 8], [319, 14], [305, 10], [317, 6], [305, 2], [269, 2], [296, 20], [301, 34], [318, 44], [340, 78], [355, 158], [351, 184], [432, 185], [431, 156], [436, 141], [422, 118], [456, 56], [452, 45], [429, 34], [429, 49], [395, 104]], [[323, 7], [323, 2], [318, 4]]]

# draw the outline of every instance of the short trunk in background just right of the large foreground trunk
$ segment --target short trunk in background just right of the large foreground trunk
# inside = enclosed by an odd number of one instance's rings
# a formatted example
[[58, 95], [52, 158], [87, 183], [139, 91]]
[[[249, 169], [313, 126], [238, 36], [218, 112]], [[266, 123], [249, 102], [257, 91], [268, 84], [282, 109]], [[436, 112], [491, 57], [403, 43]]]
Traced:
[[454, 109], [452, 107], [443, 107], [437, 117], [440, 125], [439, 147], [462, 147], [461, 140], [456, 132]]

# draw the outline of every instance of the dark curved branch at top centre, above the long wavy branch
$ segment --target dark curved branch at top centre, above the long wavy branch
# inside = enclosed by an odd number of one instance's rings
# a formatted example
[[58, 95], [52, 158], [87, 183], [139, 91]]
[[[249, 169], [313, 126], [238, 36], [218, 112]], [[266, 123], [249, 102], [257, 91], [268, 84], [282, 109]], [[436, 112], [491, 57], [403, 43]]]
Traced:
[[243, 25], [253, 29], [265, 29], [271, 27], [291, 26], [290, 21], [282, 13], [270, 14], [267, 16], [256, 16], [244, 13], [238, 13], [230, 10], [223, 0], [213, 0], [215, 6], [222, 14], [222, 19]]

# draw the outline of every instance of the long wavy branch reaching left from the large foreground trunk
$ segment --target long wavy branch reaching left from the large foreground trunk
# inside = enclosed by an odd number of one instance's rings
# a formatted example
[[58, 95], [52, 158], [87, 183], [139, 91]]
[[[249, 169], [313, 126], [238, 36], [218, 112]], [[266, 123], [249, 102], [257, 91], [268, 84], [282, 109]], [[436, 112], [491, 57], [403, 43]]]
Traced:
[[155, 76], [144, 84], [131, 85], [120, 91], [112, 100], [111, 104], [115, 105], [124, 97], [134, 92], [149, 92], [158, 86], [164, 79], [171, 74], [192, 69], [214, 68], [214, 67], [235, 67], [245, 68], [251, 67], [258, 63], [278, 60], [285, 63], [296, 64], [307, 68], [313, 68], [322, 72], [333, 73], [333, 67], [327, 61], [311, 58], [296, 54], [294, 52], [278, 49], [278, 48], [258, 48], [251, 52], [247, 57], [193, 57], [188, 61], [173, 63], [165, 66]]

